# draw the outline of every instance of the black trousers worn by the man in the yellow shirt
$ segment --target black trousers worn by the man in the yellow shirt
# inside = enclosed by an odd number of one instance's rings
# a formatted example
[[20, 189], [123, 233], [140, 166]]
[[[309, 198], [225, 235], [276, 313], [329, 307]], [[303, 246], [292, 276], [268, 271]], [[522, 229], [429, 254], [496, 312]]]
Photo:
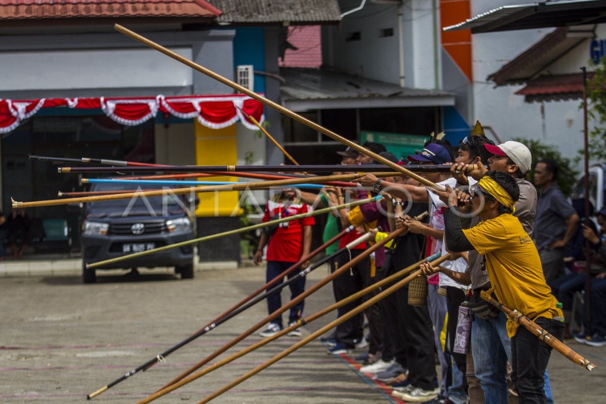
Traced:
[[[552, 336], [562, 340], [564, 322], [539, 317], [534, 320]], [[511, 381], [518, 391], [518, 402], [543, 404], [545, 369], [551, 355], [551, 348], [523, 326], [511, 339]]]

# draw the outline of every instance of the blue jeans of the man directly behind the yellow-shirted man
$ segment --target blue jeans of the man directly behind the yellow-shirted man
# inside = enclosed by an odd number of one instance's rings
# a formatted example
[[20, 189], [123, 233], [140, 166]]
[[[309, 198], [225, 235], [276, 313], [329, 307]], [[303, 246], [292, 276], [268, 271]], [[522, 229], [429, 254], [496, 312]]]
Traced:
[[[471, 323], [471, 352], [476, 377], [484, 391], [485, 403], [507, 404], [507, 360], [511, 362], [511, 339], [507, 336], [507, 316]], [[547, 369], [543, 375], [547, 403], [553, 403]]]

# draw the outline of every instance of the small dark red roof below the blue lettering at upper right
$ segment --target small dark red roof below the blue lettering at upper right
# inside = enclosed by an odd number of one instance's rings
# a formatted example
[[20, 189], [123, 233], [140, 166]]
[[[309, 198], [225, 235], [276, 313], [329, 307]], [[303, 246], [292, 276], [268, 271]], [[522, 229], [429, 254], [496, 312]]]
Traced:
[[[587, 80], [593, 78], [593, 73], [587, 73]], [[578, 99], [583, 94], [583, 75], [540, 76], [528, 81], [526, 87], [516, 92], [525, 96], [526, 102]]]

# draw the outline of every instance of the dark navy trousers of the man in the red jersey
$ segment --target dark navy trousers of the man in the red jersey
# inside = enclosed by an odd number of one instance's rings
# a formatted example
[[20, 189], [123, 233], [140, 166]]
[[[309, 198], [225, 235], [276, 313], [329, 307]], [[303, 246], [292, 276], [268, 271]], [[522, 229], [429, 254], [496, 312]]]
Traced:
[[[290, 268], [293, 263], [294, 262], [267, 261], [267, 271], [265, 272], [266, 282], [269, 282], [270, 280], [274, 279], [276, 276]], [[297, 276], [298, 274], [298, 271], [292, 271], [290, 274], [288, 274], [288, 279], [293, 276]], [[275, 283], [275, 285], [272, 285], [269, 289], [275, 288], [278, 285], [282, 285], [282, 283], [282, 280], [280, 280], [279, 282]], [[305, 291], [305, 277], [302, 277], [301, 279], [291, 283], [290, 285], [288, 285], [288, 288], [290, 288], [290, 300], [295, 299], [295, 297], [299, 296], [299, 294]], [[294, 323], [301, 319], [301, 316], [303, 314], [303, 306], [304, 300], [290, 308], [290, 316], [288, 317], [288, 323]], [[269, 314], [275, 312], [281, 307], [282, 299], [279, 292], [267, 296], [267, 311], [269, 312]], [[271, 322], [278, 324], [280, 328], [283, 328], [281, 315], [271, 320]]]

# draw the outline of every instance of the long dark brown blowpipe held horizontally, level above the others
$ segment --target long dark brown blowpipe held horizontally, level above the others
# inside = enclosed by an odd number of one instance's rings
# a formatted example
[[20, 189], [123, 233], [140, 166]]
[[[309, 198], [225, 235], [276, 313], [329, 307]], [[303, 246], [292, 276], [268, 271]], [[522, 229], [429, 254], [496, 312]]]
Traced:
[[[397, 167], [403, 167], [397, 165]], [[408, 172], [415, 173], [450, 173], [451, 165], [407, 165]], [[467, 167], [467, 171], [472, 171], [475, 165]], [[348, 165], [171, 165], [164, 167], [58, 167], [59, 173], [156, 173], [162, 171], [165, 173], [211, 173], [224, 172], [226, 175], [232, 173], [250, 173], [253, 171], [267, 171], [276, 173], [332, 173], [339, 171], [341, 173], [378, 173], [390, 171], [391, 175], [402, 175], [393, 167], [382, 164], [348, 164]], [[416, 174], [415, 174], [416, 175]], [[425, 181], [427, 182], [427, 181]], [[432, 183], [433, 184], [433, 183]]]

